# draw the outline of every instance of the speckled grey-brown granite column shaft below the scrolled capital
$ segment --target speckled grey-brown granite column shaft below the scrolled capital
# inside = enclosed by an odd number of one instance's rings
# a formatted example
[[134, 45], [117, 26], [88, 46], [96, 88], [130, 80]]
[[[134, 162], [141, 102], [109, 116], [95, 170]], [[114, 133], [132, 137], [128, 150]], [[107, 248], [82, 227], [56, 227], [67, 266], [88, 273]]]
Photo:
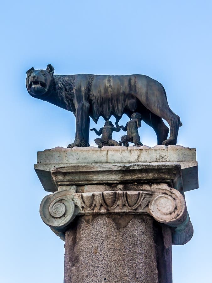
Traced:
[[[117, 219], [122, 217], [116, 214]], [[90, 220], [79, 217], [74, 227], [66, 231], [64, 282], [170, 283], [171, 234], [166, 235], [166, 241], [162, 240], [166, 242], [166, 252], [164, 244], [158, 245], [160, 240], [155, 241], [155, 237], [164, 236], [159, 231], [155, 235], [153, 219], [147, 215], [133, 216], [123, 228], [111, 216], [101, 215]], [[159, 246], [160, 252], [169, 255], [165, 264], [156, 257]], [[163, 269], [166, 269], [165, 275]], [[165, 280], [161, 281], [161, 277]]]

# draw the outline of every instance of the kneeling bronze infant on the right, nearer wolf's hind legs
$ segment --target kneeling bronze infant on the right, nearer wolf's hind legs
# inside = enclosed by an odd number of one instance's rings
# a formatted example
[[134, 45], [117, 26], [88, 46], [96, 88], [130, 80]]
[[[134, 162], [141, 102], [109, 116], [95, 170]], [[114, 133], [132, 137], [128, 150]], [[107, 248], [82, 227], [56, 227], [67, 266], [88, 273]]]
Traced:
[[127, 131], [127, 135], [121, 137], [121, 141], [125, 147], [129, 146], [129, 142], [134, 142], [136, 147], [140, 147], [143, 144], [140, 142], [140, 136], [138, 132], [138, 128], [141, 126], [141, 114], [133, 113], [132, 119], [127, 122], [126, 126], [120, 126], [123, 131]]

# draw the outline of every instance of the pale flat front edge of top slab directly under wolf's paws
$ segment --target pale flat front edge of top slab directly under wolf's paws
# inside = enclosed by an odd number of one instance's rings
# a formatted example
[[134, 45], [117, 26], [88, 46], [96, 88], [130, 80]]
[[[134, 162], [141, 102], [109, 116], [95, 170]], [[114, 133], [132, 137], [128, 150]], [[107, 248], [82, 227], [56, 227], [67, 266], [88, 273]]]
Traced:
[[[62, 152], [64, 151], [64, 154]], [[76, 152], [77, 151], [77, 152]], [[90, 151], [92, 151], [90, 153]], [[121, 154], [120, 154], [121, 151]], [[60, 152], [58, 155], [57, 152]], [[113, 162], [196, 162], [196, 149], [182, 146], [155, 147], [56, 147], [38, 152], [37, 164], [83, 164]]]

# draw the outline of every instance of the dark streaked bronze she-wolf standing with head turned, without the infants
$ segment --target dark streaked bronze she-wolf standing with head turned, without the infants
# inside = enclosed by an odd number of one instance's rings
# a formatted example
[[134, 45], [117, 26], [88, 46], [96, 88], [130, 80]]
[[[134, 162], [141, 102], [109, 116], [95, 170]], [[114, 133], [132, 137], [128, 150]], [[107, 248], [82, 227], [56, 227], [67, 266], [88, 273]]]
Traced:
[[[48, 101], [73, 112], [76, 116], [75, 141], [68, 147], [89, 146], [90, 117], [98, 121], [113, 115], [119, 121], [123, 114], [130, 118], [133, 112], [151, 126], [158, 144], [175, 145], [180, 117], [169, 108], [164, 87], [145, 75], [53, 75], [49, 64], [46, 70], [27, 71], [26, 87], [35, 98]], [[165, 119], [170, 126], [164, 124]]]

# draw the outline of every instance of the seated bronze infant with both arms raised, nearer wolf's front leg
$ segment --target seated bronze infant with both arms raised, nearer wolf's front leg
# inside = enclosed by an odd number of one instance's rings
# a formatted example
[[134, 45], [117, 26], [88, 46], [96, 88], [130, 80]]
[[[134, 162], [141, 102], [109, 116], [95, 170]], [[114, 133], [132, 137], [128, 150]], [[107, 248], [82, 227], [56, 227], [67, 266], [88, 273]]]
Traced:
[[114, 127], [113, 123], [111, 121], [106, 121], [103, 128], [101, 128], [99, 131], [97, 131], [95, 128], [90, 129], [91, 131], [95, 131], [97, 136], [101, 136], [101, 138], [95, 139], [95, 143], [98, 145], [99, 148], [103, 146], [119, 146], [122, 145], [122, 142], [117, 142], [112, 139], [112, 132], [119, 132], [120, 126], [118, 125], [118, 122], [116, 121], [116, 127]]

